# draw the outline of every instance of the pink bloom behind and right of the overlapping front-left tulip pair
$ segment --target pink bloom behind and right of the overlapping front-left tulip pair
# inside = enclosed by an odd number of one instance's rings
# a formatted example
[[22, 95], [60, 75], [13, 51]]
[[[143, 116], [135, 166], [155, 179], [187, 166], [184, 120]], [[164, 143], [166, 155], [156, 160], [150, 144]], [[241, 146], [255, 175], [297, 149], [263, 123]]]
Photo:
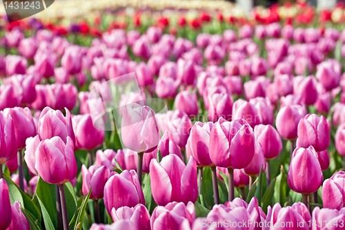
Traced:
[[103, 143], [103, 119], [98, 119], [97, 124], [93, 124], [90, 114], [75, 115], [72, 117], [72, 126], [75, 131], [76, 148], [92, 150]]

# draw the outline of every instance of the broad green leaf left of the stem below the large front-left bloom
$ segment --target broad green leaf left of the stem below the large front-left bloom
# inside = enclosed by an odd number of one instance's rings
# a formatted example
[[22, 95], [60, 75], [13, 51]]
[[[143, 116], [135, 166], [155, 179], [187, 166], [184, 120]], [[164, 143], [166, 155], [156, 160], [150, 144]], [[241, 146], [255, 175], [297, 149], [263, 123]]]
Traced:
[[37, 182], [36, 195], [41, 206], [46, 229], [57, 229], [57, 185], [48, 184], [41, 177]]

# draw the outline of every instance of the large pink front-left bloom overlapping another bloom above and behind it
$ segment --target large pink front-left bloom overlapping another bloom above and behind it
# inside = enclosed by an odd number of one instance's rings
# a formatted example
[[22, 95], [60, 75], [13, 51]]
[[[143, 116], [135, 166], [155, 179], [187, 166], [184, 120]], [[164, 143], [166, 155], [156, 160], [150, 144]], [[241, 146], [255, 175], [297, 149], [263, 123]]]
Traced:
[[61, 137], [41, 141], [35, 157], [34, 168], [47, 183], [64, 184], [77, 176], [77, 162], [70, 137], [67, 137], [66, 144]]

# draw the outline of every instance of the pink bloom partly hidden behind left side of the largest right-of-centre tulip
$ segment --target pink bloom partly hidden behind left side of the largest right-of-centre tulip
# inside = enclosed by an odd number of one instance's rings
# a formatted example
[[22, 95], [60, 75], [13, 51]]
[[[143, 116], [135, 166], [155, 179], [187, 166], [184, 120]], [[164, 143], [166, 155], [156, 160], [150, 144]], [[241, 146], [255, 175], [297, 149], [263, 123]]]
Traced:
[[206, 122], [205, 124], [202, 122], [196, 122], [190, 131], [188, 140], [190, 141], [191, 155], [197, 163], [202, 166], [212, 165], [210, 153], [208, 152], [212, 126], [212, 122]]

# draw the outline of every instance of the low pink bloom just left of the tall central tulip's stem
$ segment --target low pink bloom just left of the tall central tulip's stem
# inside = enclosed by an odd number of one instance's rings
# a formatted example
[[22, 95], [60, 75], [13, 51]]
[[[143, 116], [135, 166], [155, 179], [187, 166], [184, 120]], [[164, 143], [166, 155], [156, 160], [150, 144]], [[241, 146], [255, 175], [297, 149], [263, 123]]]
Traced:
[[134, 170], [112, 175], [104, 187], [104, 205], [111, 215], [112, 208], [135, 207], [145, 204], [144, 193]]

